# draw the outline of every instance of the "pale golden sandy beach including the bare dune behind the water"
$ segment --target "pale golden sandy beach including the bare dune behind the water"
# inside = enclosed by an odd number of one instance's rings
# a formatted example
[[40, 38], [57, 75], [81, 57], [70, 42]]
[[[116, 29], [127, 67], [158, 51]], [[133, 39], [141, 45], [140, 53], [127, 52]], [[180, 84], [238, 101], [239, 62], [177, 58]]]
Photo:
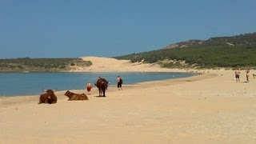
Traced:
[[[127, 60], [85, 57], [74, 71], [200, 72], [190, 78], [110, 87], [99, 98], [38, 105], [38, 95], [0, 98], [0, 143], [256, 143], [256, 74], [241, 70], [174, 70]], [[86, 93], [86, 90], [72, 90]]]

